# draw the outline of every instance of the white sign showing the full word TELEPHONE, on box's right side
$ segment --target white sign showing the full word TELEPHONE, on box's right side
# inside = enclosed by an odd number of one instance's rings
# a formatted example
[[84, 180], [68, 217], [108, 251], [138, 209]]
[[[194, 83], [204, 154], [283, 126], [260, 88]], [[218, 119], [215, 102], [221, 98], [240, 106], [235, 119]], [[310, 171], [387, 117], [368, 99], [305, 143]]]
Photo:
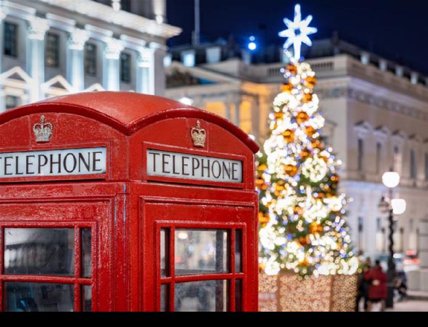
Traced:
[[147, 149], [147, 175], [242, 183], [242, 161]]

